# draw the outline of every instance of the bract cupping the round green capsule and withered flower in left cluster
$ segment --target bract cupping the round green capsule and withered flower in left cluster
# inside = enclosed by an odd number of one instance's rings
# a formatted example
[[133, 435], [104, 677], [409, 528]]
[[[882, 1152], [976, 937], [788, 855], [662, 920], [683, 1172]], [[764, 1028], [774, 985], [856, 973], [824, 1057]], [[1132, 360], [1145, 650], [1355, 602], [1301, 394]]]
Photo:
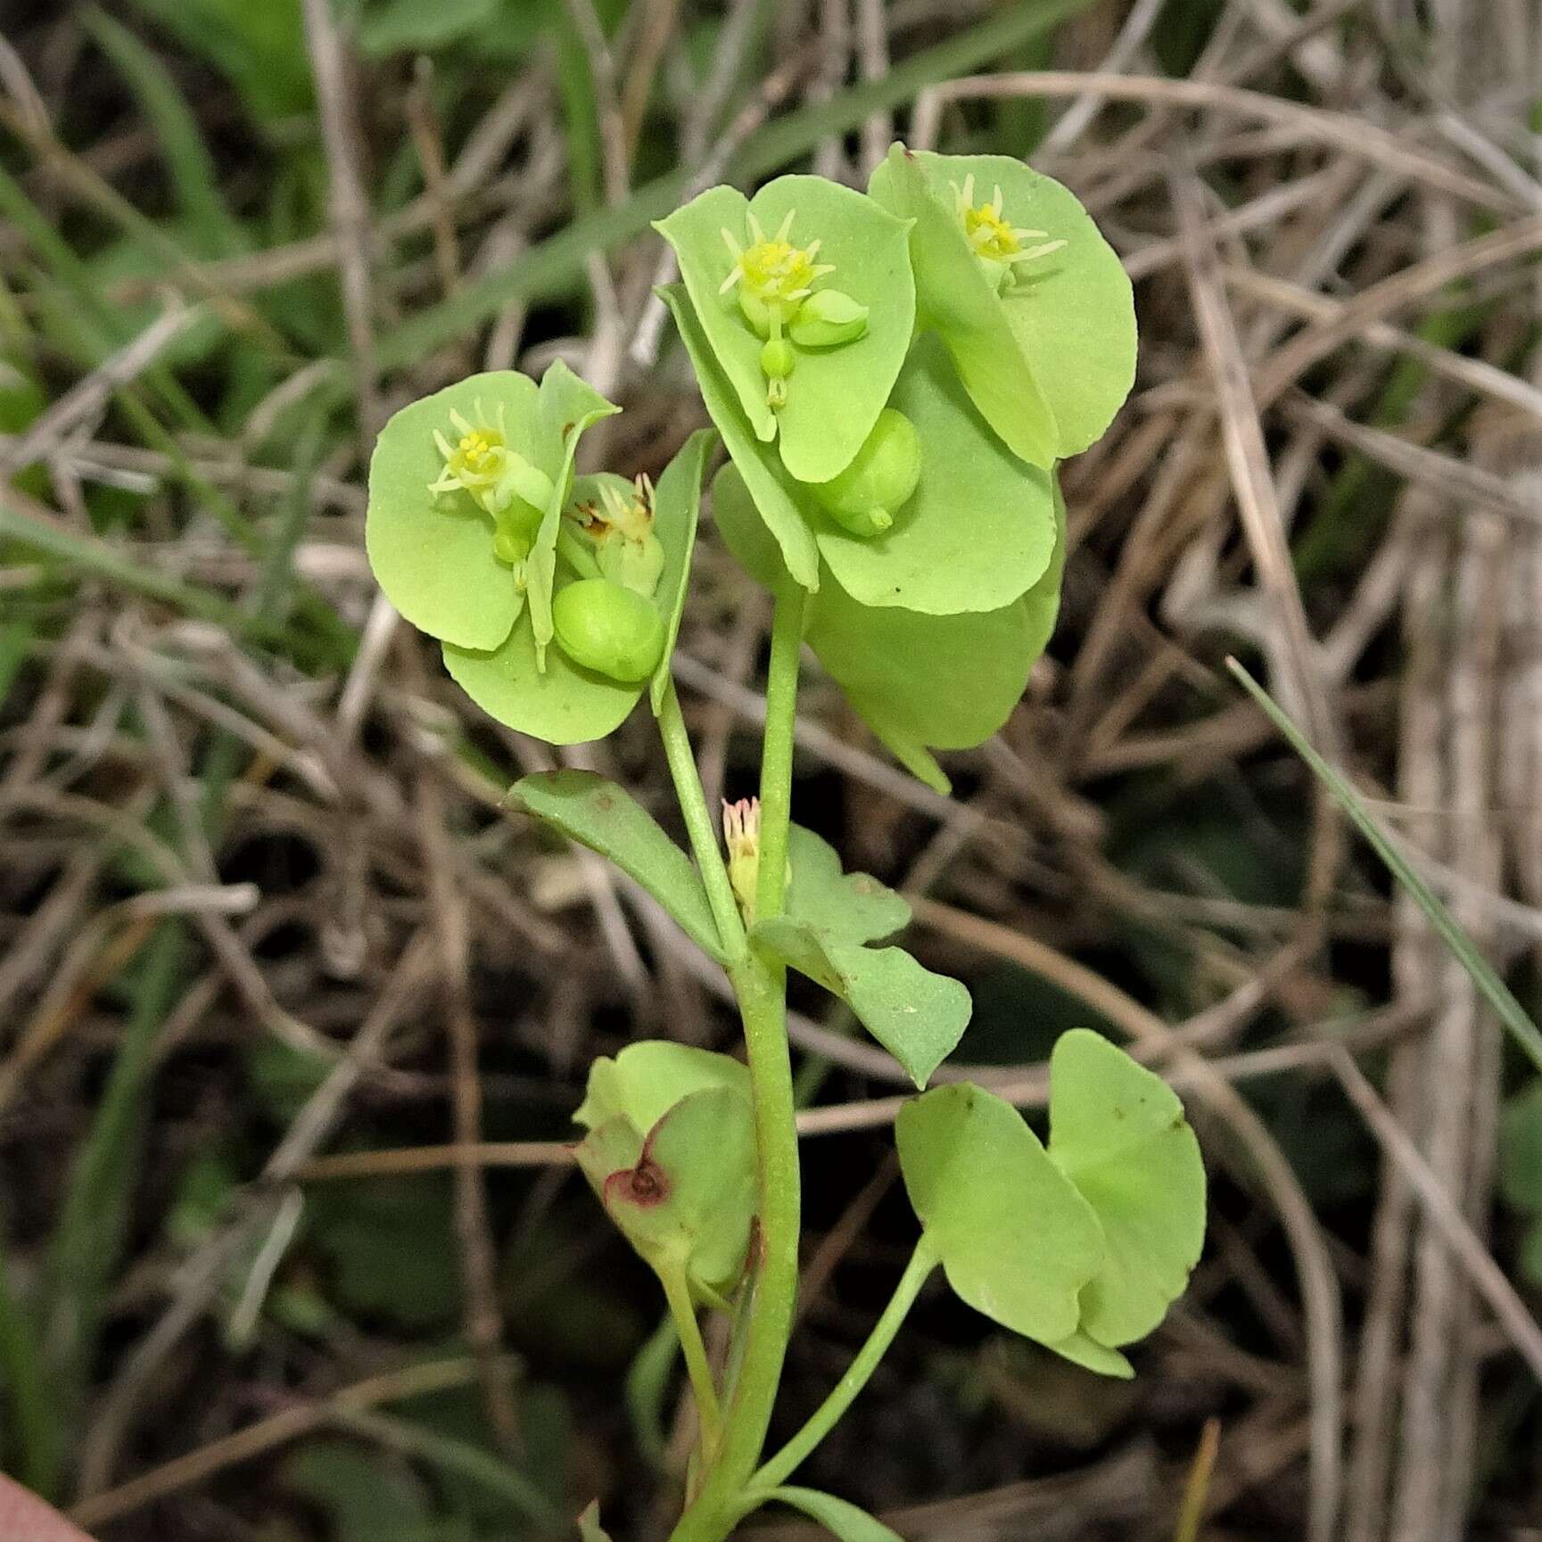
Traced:
[[[652, 495], [652, 530], [663, 550], [662, 574], [651, 598], [637, 595], [612, 597], [617, 606], [631, 601], [648, 606], [657, 614], [662, 628], [662, 645], [657, 662], [638, 672], [640, 654], [629, 654], [637, 668], [623, 668], [621, 675], [595, 668], [586, 668], [581, 658], [571, 657], [563, 646], [547, 649], [544, 669], [540, 666], [535, 634], [529, 612], [520, 615], [506, 640], [492, 649], [472, 649], [453, 645], [444, 648], [444, 665], [463, 691], [490, 717], [520, 732], [534, 734], [554, 745], [581, 743], [603, 739], [618, 728], [637, 705], [638, 697], [652, 686], [657, 706], [660, 692], [669, 674], [669, 654], [680, 628], [685, 608], [686, 584], [691, 572], [691, 554], [695, 546], [695, 524], [702, 501], [702, 467], [712, 432], [703, 429], [694, 433], [685, 447], [665, 469]], [[600, 497], [601, 484], [608, 483], [617, 497], [632, 497], [634, 484], [620, 476], [580, 476], [574, 483], [567, 507], [577, 518]], [[552, 535], [552, 550], [557, 550], [557, 535]], [[578, 583], [595, 583], [592, 574]], [[558, 591], [558, 595], [563, 591]], [[589, 617], [589, 620], [597, 620]], [[598, 617], [604, 620], [604, 617]], [[635, 618], [634, 618], [635, 620]], [[634, 632], [651, 628], [632, 628]], [[652, 645], [649, 645], [652, 646]], [[591, 663], [606, 665], [603, 657]], [[617, 660], [611, 660], [614, 665]]]

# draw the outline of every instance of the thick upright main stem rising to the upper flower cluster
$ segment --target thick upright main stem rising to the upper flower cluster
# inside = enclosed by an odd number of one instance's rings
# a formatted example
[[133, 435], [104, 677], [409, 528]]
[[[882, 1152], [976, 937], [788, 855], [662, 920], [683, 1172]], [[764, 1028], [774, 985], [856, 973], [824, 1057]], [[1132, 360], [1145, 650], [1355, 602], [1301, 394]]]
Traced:
[[[760, 760], [760, 876], [757, 916], [776, 916], [786, 897], [793, 806], [793, 725], [806, 595], [777, 595]], [[742, 1496], [771, 1425], [797, 1301], [800, 1189], [793, 1059], [786, 1042], [786, 970], [745, 948], [728, 970], [745, 1024], [756, 1147], [760, 1156], [759, 1260], [745, 1321], [743, 1360], [723, 1420], [717, 1460], [671, 1542], [722, 1542], [743, 1514]]]

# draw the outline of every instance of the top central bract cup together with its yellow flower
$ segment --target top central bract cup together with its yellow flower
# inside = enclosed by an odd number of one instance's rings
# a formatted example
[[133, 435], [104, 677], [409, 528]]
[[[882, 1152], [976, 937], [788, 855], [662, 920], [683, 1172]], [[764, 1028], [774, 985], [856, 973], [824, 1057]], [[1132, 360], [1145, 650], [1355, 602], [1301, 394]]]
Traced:
[[[752, 199], [708, 188], [657, 228], [754, 438], [776, 441], [799, 481], [837, 476], [884, 410], [910, 347], [916, 290], [905, 221], [825, 177], [786, 176]], [[816, 295], [831, 298], [803, 311]], [[768, 393], [762, 353], [773, 339], [790, 341], [793, 362], [773, 376], [780, 392]], [[709, 399], [708, 410], [719, 418], [723, 407]]]

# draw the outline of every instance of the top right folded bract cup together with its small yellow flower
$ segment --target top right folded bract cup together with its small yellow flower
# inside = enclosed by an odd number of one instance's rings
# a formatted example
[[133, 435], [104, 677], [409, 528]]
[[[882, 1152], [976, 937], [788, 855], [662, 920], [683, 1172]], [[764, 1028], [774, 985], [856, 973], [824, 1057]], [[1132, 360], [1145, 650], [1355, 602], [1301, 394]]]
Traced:
[[921, 324], [996, 433], [1036, 466], [1096, 441], [1135, 379], [1135, 302], [1076, 197], [1008, 156], [902, 145], [868, 191], [913, 221]]

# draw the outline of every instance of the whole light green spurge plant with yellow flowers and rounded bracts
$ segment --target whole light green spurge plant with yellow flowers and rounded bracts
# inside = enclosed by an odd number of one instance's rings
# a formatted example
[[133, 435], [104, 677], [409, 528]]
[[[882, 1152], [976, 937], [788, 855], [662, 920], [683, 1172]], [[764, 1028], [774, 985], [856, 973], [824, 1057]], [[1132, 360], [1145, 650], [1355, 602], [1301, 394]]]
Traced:
[[[658, 1275], [699, 1414], [674, 1542], [720, 1542], [768, 1502], [873, 1542], [894, 1533], [788, 1480], [939, 1268], [1001, 1326], [1130, 1375], [1124, 1346], [1161, 1321], [1203, 1240], [1178, 1098], [1096, 1033], [1055, 1047], [1047, 1144], [984, 1087], [922, 1090], [896, 1121], [911, 1261], [823, 1406], [765, 1454], [799, 1261], [786, 973], [840, 998], [917, 1089], [970, 1018], [962, 984], [888, 941], [905, 901], [791, 822], [800, 652], [948, 790], [934, 751], [1001, 728], [1055, 623], [1056, 466], [1130, 389], [1130, 285], [1066, 188], [998, 156], [896, 145], [865, 194], [811, 176], [751, 199], [719, 187], [658, 230], [680, 268], [662, 298], [715, 433], [692, 435], [657, 486], [578, 476], [578, 441], [611, 402], [560, 362], [538, 386], [473, 376], [381, 433], [369, 554], [500, 723], [592, 740], [648, 694], [689, 854], [589, 773], [529, 776], [510, 797], [646, 888], [726, 970], [743, 1021], [743, 1059], [645, 1041], [597, 1061], [577, 1113], [578, 1164]], [[719, 532], [776, 601], [759, 797], [725, 810], [723, 845], [669, 672], [717, 436]], [[722, 1363], [702, 1312], [729, 1314]], [[604, 1537], [592, 1507], [580, 1530]]]

